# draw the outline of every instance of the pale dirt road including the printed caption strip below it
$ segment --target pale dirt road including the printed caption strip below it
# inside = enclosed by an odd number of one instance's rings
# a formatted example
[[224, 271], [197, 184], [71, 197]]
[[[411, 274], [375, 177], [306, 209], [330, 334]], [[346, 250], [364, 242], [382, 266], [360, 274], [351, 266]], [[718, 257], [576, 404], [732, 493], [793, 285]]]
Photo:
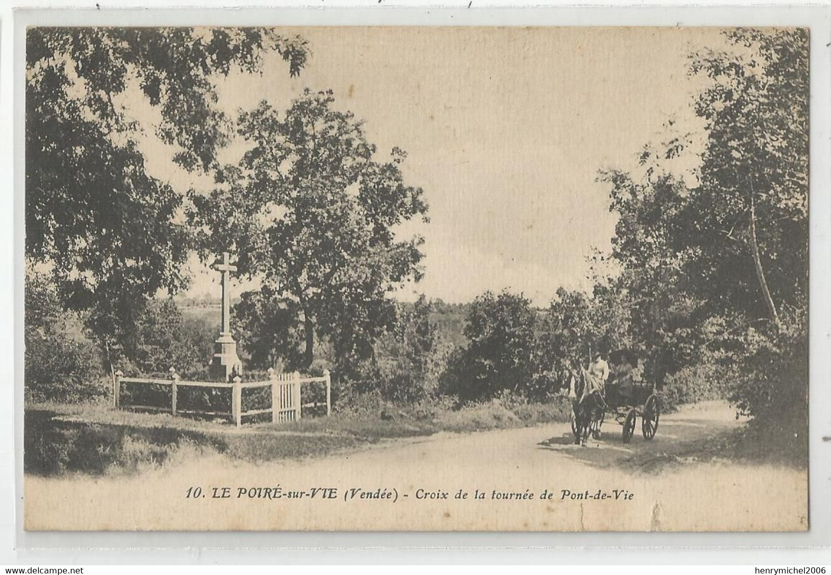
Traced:
[[[654, 440], [573, 445], [568, 425], [398, 440], [322, 460], [220, 455], [130, 478], [25, 483], [27, 528], [802, 530], [807, 474], [687, 463], [645, 472], [689, 440], [740, 425], [720, 403], [661, 418]], [[199, 491], [197, 491], [199, 489]], [[188, 496], [188, 494], [190, 496]], [[278, 497], [279, 495], [279, 497]], [[479, 499], [481, 498], [481, 499]]]

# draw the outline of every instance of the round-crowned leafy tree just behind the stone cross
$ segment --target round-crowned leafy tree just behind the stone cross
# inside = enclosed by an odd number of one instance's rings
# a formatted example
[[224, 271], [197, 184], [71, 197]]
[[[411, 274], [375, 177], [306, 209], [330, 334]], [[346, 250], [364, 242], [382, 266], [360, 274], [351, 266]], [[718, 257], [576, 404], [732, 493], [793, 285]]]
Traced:
[[395, 321], [388, 294], [421, 276], [420, 244], [396, 227], [421, 216], [423, 191], [404, 183], [406, 154], [375, 159], [352, 113], [337, 111], [331, 91], [305, 91], [281, 115], [267, 102], [238, 119], [250, 145], [239, 165], [224, 166], [217, 188], [194, 194], [191, 221], [204, 254], [233, 248], [242, 273], [263, 278], [272, 302], [289, 299], [302, 326], [303, 366], [316, 337], [338, 357], [365, 357]]

